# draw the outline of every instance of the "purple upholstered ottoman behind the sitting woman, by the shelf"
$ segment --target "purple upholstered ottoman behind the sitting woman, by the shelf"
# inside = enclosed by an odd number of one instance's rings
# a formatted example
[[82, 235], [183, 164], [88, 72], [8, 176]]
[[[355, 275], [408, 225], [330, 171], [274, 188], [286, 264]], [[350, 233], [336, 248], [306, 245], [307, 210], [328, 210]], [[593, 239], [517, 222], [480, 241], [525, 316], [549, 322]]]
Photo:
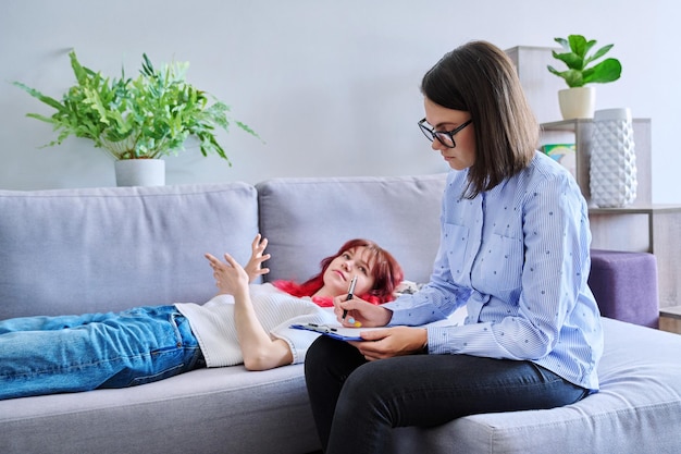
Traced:
[[591, 249], [589, 286], [604, 317], [657, 328], [657, 261], [653, 254]]

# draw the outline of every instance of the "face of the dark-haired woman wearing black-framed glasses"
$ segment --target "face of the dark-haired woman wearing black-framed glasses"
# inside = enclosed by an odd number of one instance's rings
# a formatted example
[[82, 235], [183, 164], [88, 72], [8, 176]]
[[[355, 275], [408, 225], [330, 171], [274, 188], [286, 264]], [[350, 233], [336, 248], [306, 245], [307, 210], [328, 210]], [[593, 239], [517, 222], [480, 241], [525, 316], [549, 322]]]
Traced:
[[[436, 132], [448, 132], [457, 128], [471, 119], [469, 112], [463, 110], [447, 109], [438, 106], [428, 98], [423, 101], [425, 108], [425, 121]], [[455, 148], [445, 146], [437, 139], [433, 140], [432, 148], [445, 158], [451, 169], [463, 170], [475, 163], [475, 124], [471, 123], [456, 133]]]

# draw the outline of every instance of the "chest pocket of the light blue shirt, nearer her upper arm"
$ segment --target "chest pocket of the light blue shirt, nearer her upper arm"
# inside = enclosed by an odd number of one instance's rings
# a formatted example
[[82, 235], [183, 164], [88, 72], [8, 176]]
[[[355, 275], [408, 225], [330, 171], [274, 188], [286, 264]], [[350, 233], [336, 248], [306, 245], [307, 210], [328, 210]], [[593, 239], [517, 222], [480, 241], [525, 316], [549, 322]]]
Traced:
[[519, 289], [524, 261], [521, 240], [493, 234], [479, 260], [479, 278], [491, 291]]

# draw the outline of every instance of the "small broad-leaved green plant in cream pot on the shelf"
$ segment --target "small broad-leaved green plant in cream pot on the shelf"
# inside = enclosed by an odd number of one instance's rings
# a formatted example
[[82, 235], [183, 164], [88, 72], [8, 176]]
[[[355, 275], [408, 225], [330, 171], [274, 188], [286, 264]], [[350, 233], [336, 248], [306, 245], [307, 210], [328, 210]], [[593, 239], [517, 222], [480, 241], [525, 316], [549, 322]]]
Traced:
[[570, 35], [568, 39], [555, 38], [562, 47], [561, 52], [552, 51], [554, 58], [568, 69], [558, 71], [547, 65], [552, 74], [565, 79], [568, 88], [558, 91], [560, 112], [565, 120], [594, 115], [596, 89], [589, 84], [605, 84], [617, 81], [622, 72], [619, 60], [607, 58], [598, 61], [610, 51], [614, 45], [603, 46], [593, 51], [595, 40], [586, 40], [582, 35]]

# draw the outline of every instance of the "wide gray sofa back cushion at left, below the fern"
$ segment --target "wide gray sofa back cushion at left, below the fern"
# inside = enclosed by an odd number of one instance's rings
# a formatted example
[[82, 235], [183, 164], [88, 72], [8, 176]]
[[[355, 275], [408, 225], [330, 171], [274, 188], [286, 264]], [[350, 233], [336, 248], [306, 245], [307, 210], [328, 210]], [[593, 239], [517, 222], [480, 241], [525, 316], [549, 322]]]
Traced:
[[243, 183], [0, 191], [0, 319], [203, 303], [203, 254], [245, 263], [257, 231]]

